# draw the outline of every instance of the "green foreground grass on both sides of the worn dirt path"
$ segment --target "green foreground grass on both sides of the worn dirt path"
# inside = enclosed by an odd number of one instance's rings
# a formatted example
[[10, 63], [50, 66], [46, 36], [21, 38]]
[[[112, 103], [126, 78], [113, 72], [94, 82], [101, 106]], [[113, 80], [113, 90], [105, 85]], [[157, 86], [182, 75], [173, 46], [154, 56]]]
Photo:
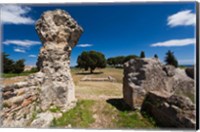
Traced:
[[[94, 113], [92, 110], [96, 105], [103, 105], [102, 108], [99, 107], [101, 113]], [[75, 108], [63, 113], [62, 117], [54, 119], [51, 127], [62, 128], [70, 124], [72, 128], [90, 128], [95, 121], [94, 114], [100, 114], [99, 116], [106, 119], [105, 128], [156, 128], [154, 120], [143, 116], [140, 111], [120, 111], [109, 103], [94, 100], [80, 100]]]

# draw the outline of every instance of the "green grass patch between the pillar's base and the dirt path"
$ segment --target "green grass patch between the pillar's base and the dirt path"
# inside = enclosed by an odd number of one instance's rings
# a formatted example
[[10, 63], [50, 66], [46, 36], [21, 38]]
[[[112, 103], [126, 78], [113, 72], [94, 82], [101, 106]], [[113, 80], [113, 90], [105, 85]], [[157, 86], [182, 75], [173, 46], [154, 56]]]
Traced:
[[54, 119], [51, 127], [64, 127], [71, 125], [76, 128], [87, 128], [94, 122], [90, 108], [94, 104], [92, 100], [78, 101], [77, 106], [65, 113], [63, 116]]

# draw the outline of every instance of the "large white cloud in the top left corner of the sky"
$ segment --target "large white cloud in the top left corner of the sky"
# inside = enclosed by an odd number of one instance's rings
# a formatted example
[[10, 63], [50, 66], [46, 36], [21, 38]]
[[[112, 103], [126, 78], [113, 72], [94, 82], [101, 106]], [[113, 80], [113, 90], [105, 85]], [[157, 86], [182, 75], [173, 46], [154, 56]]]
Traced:
[[34, 24], [34, 20], [27, 16], [31, 11], [29, 7], [19, 5], [2, 5], [1, 21], [4, 24]]

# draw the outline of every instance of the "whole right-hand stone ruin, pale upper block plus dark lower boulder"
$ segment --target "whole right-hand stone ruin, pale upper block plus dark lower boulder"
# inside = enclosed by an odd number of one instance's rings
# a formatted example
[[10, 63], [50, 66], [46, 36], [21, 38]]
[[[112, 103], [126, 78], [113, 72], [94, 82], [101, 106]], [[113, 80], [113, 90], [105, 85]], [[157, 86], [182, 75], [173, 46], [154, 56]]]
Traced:
[[124, 101], [132, 109], [142, 107], [158, 120], [162, 117], [159, 120], [162, 125], [173, 121], [174, 125], [163, 126], [195, 127], [195, 106], [191, 101], [195, 98], [194, 85], [184, 69], [162, 65], [156, 58], [132, 59], [124, 64]]

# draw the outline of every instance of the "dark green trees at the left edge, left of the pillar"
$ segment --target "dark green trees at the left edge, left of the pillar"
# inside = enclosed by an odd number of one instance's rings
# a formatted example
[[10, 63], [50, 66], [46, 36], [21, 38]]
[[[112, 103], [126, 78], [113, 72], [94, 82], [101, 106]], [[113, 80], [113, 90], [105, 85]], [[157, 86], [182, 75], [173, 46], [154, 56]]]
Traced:
[[17, 61], [14, 61], [9, 57], [8, 54], [6, 54], [5, 52], [3, 52], [3, 73], [21, 73], [24, 71], [24, 62], [25, 60], [20, 59]]

